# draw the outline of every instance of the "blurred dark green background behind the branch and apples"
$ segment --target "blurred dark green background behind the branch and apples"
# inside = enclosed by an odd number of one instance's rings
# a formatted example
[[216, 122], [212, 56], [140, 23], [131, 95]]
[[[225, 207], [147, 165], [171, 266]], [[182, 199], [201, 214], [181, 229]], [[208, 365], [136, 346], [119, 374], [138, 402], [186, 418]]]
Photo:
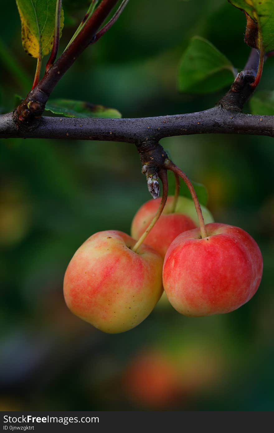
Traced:
[[[61, 48], [84, 14], [79, 5], [87, 3], [63, 1]], [[0, 25], [4, 113], [14, 108], [14, 94], [27, 94], [35, 60], [21, 46], [15, 1], [2, 7]], [[226, 0], [131, 0], [52, 97], [105, 104], [124, 117], [212, 107], [225, 90], [177, 93], [180, 57], [199, 35], [240, 69], [249, 54], [244, 30], [244, 14]], [[273, 89], [273, 71], [270, 58], [260, 90]], [[161, 144], [206, 185], [215, 220], [242, 227], [258, 242], [264, 273], [257, 294], [226, 315], [187, 318], [158, 304], [129, 332], [95, 330], [67, 309], [64, 271], [91, 234], [129, 233], [135, 212], [150, 199], [135, 146], [2, 140], [1, 410], [273, 410], [273, 139], [197, 135]]]

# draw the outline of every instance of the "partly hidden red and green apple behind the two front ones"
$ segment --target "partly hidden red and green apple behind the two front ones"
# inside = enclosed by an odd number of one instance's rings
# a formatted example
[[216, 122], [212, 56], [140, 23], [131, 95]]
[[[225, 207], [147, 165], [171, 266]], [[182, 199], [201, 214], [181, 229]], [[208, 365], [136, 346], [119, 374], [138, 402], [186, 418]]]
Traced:
[[[145, 243], [152, 246], [163, 258], [171, 242], [180, 233], [194, 229], [199, 225], [193, 200], [179, 196], [175, 212], [172, 213], [173, 200], [173, 196], [168, 197], [163, 213], [152, 231], [145, 238]], [[139, 239], [147, 229], [158, 210], [160, 201], [161, 198], [149, 200], [137, 211], [131, 226], [131, 236], [134, 239]], [[212, 223], [214, 220], [210, 211], [204, 206], [201, 206], [201, 208], [205, 223]]]

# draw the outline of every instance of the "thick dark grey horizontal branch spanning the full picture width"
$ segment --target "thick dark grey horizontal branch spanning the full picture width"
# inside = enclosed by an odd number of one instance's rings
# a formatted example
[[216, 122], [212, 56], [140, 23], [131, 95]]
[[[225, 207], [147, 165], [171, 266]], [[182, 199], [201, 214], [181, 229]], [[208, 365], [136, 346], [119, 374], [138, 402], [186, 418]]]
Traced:
[[136, 143], [193, 134], [250, 134], [274, 137], [274, 116], [214, 107], [197, 113], [133, 119], [41, 117], [32, 129], [18, 129], [13, 113], [0, 116], [0, 138], [51, 138]]

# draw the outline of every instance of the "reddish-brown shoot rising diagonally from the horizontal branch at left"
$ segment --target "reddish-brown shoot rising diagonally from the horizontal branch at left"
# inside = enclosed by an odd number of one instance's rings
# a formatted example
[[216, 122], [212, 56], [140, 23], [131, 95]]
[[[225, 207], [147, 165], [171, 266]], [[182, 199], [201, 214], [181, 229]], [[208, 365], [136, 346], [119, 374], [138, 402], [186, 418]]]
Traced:
[[29, 123], [32, 123], [42, 115], [45, 103], [52, 90], [79, 55], [90, 45], [100, 26], [118, 1], [102, 0], [81, 32], [71, 42], [61, 57], [58, 58], [52, 68], [44, 75], [38, 85], [31, 90], [26, 99], [19, 105], [15, 112], [15, 120], [18, 125], [26, 123], [26, 126], [29, 126]]

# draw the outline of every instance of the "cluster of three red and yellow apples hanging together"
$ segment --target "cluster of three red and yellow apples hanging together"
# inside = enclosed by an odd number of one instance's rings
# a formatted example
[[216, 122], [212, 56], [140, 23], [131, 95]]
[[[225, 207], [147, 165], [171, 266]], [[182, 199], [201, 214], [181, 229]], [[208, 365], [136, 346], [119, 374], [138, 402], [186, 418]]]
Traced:
[[261, 281], [263, 261], [244, 230], [214, 223], [201, 207], [207, 236], [201, 236], [193, 201], [168, 197], [145, 243], [136, 239], [151, 223], [160, 199], [135, 214], [131, 235], [116, 230], [90, 236], [75, 252], [64, 275], [64, 298], [81, 319], [106, 333], [141, 323], [159, 301], [186, 316], [228, 313], [249, 301]]

